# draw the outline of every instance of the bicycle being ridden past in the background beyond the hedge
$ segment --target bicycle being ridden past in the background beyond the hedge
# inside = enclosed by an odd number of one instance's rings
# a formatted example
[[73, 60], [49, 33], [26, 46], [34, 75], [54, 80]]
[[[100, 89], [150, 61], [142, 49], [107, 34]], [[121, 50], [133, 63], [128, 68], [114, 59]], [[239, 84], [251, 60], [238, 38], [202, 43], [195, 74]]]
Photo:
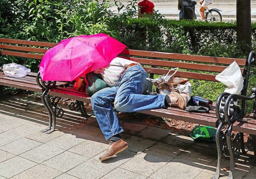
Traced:
[[[200, 7], [202, 7], [200, 4], [196, 4]], [[203, 20], [200, 10], [198, 12], [198, 10], [195, 8], [196, 12], [198, 13], [199, 17]], [[204, 17], [205, 20], [208, 22], [222, 22], [222, 15], [220, 14], [219, 9], [213, 8], [213, 9], [209, 9], [208, 6], [205, 8], [204, 10]]]

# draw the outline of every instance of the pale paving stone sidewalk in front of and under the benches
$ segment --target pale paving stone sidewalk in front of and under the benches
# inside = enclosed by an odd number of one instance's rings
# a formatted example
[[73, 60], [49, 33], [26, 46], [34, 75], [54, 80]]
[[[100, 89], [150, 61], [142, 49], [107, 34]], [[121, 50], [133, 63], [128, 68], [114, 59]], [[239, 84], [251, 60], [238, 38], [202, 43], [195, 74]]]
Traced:
[[[40, 132], [48, 113], [40, 100], [0, 99], [0, 179], [210, 179], [217, 165], [214, 143], [195, 143], [173, 131], [122, 120], [128, 149], [99, 161], [108, 147], [95, 117], [64, 109], [57, 130]], [[254, 179], [252, 155], [236, 163], [236, 179]], [[228, 169], [228, 158], [222, 168]], [[222, 170], [222, 179], [228, 171]]]

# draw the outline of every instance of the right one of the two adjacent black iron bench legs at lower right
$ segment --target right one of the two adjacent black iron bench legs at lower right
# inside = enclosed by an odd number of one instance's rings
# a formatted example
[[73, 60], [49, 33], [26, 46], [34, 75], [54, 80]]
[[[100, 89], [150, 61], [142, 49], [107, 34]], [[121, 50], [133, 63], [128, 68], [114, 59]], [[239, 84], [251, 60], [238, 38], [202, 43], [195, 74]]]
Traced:
[[232, 133], [232, 124], [228, 127], [228, 133], [227, 133], [227, 143], [228, 143], [228, 151], [230, 154], [230, 169], [228, 174], [228, 179], [233, 179], [234, 174], [234, 149], [232, 147], [232, 141], [231, 141], [231, 133]]

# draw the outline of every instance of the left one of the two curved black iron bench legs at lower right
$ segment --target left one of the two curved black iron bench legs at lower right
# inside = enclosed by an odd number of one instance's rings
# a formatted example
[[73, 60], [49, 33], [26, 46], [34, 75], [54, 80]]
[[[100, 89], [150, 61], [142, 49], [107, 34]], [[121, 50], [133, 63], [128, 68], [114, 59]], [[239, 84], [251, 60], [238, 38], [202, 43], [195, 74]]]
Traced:
[[218, 150], [218, 163], [217, 163], [217, 169], [215, 172], [214, 177], [212, 177], [211, 179], [218, 179], [220, 177], [220, 164], [221, 164], [221, 159], [222, 159], [222, 148], [221, 148], [221, 129], [223, 127], [224, 123], [220, 123], [217, 131], [216, 131], [216, 145], [217, 145], [217, 150]]

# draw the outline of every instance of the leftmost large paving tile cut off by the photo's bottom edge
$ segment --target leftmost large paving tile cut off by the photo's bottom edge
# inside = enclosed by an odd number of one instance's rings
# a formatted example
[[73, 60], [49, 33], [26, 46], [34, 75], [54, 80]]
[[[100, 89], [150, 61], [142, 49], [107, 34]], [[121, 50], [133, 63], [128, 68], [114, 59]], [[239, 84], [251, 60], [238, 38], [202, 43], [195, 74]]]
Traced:
[[15, 175], [11, 179], [54, 179], [61, 174], [61, 171], [38, 164], [22, 173], [19, 173], [18, 175]]

